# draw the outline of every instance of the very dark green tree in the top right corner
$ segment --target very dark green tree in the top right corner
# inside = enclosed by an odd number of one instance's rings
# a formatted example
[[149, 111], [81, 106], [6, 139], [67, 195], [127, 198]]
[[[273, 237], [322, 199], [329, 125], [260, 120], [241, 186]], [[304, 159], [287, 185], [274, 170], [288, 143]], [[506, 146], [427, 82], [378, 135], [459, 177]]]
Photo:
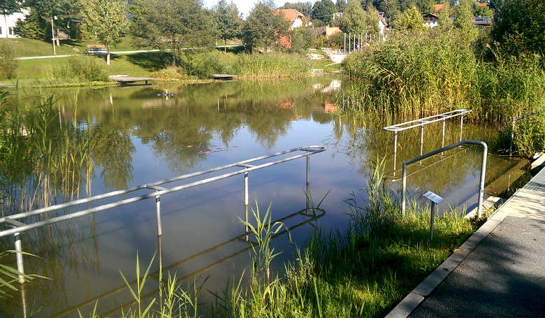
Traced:
[[491, 36], [509, 55], [545, 54], [545, 3], [505, 0], [495, 11]]

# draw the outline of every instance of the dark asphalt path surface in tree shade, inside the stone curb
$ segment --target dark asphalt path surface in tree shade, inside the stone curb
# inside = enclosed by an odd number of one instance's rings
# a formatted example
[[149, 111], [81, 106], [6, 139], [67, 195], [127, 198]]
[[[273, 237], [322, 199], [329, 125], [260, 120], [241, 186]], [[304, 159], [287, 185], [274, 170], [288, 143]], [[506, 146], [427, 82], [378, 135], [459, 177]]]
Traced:
[[409, 317], [545, 317], [545, 222], [505, 217]]

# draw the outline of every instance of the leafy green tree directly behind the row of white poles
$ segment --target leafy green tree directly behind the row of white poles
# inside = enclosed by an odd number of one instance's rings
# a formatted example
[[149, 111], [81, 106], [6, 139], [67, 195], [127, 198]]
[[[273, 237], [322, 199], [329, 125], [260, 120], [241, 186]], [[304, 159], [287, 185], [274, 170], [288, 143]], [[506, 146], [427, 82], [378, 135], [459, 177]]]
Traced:
[[375, 10], [365, 12], [358, 0], [349, 0], [339, 27], [344, 33], [360, 34], [379, 32], [379, 18]]

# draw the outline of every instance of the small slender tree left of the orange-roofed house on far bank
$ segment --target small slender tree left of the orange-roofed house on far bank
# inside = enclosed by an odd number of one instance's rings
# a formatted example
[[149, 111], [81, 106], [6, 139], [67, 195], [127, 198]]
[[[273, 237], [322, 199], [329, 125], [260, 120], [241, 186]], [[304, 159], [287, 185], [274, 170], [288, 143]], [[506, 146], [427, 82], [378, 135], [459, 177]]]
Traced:
[[242, 17], [240, 17], [238, 8], [233, 1], [231, 3], [227, 3], [227, 0], [217, 1], [216, 5], [212, 8], [212, 12], [216, 22], [217, 34], [219, 38], [224, 40], [224, 52], [227, 52], [226, 41], [238, 38]]

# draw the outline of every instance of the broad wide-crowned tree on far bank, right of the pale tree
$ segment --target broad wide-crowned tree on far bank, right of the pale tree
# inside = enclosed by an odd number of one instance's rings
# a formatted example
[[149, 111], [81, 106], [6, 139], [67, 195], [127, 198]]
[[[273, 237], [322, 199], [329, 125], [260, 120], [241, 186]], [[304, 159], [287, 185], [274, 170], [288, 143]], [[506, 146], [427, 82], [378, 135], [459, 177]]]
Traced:
[[200, 0], [136, 0], [131, 13], [135, 44], [171, 50], [173, 66], [182, 49], [214, 42], [213, 17]]

